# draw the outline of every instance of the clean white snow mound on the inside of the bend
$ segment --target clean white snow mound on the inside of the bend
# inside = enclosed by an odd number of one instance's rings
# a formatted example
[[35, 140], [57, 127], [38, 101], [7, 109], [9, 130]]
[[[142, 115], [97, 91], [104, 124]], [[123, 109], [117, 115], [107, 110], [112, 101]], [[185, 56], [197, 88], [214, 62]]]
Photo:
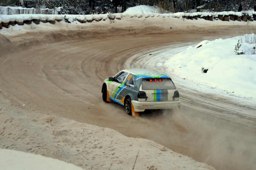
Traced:
[[[255, 45], [255, 34], [204, 40], [171, 57], [166, 66], [188, 81], [216, 87], [231, 95], [256, 98]], [[243, 55], [236, 55], [242, 52]]]

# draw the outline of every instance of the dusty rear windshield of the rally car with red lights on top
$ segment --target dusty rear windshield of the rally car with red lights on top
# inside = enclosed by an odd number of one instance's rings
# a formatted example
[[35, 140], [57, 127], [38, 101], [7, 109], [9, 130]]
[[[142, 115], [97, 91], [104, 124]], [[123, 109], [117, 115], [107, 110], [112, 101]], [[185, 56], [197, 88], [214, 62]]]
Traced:
[[[151, 81], [150, 81], [151, 80]], [[176, 89], [171, 79], [144, 79], [142, 80], [143, 90], [167, 90]]]

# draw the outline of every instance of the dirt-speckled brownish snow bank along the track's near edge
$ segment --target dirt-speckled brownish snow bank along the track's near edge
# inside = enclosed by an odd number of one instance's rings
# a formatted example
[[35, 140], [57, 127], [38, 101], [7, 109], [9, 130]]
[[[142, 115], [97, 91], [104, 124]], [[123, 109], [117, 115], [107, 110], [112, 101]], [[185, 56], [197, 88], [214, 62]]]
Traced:
[[0, 149], [0, 169], [214, 170], [206, 163], [147, 139], [126, 137], [110, 128], [28, 112], [24, 107], [0, 102], [0, 144], [3, 148], [17, 150]]

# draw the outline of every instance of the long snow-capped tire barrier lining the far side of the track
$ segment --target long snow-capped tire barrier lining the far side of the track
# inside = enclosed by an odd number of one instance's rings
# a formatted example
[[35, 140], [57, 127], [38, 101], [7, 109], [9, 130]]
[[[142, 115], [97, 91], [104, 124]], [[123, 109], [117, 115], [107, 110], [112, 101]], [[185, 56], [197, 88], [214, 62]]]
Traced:
[[[199, 15], [198, 15], [199, 14]], [[228, 14], [228, 15], [227, 15]], [[17, 25], [24, 25], [24, 24], [31, 24], [32, 22], [34, 24], [40, 24], [49, 22], [50, 24], [55, 24], [56, 21], [65, 21], [68, 23], [77, 21], [80, 23], [91, 23], [92, 21], [99, 22], [101, 20], [106, 21], [114, 20], [114, 19], [122, 19], [124, 17], [141, 17], [148, 18], [148, 17], [172, 17], [172, 18], [186, 18], [190, 20], [197, 20], [197, 19], [205, 19], [209, 21], [213, 20], [221, 20], [221, 21], [244, 21], [247, 22], [256, 20], [256, 12], [253, 12], [251, 14], [245, 14], [241, 12], [218, 12], [218, 13], [209, 13], [209, 12], [195, 12], [195, 13], [183, 13], [178, 12], [174, 14], [157, 14], [157, 13], [129, 13], [129, 14], [123, 14], [123, 13], [117, 13], [117, 14], [95, 14], [95, 15], [39, 15], [39, 14], [31, 14], [31, 15], [2, 15], [0, 18], [0, 29], [2, 27], [8, 28], [9, 25], [15, 26]], [[9, 18], [8, 18], [9, 17]], [[7, 18], [7, 19], [6, 19]]]

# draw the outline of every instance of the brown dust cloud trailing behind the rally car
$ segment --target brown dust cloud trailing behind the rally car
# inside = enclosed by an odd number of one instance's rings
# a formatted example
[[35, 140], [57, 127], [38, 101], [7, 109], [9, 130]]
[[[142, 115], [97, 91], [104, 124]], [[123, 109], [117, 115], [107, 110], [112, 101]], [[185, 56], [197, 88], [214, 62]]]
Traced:
[[[176, 142], [185, 146], [187, 153], [199, 151], [197, 161], [215, 165], [216, 169], [255, 169], [255, 136], [234, 131], [234, 122], [222, 124], [218, 118], [212, 121], [198, 117], [196, 111], [151, 111], [142, 115], [145, 121], [154, 122], [154, 126], [169, 129]], [[227, 123], [227, 122], [225, 122]], [[182, 138], [182, 139], [181, 139]], [[172, 148], [169, 148], [172, 149]], [[175, 150], [177, 151], [177, 150]], [[227, 166], [228, 165], [228, 166]]]

